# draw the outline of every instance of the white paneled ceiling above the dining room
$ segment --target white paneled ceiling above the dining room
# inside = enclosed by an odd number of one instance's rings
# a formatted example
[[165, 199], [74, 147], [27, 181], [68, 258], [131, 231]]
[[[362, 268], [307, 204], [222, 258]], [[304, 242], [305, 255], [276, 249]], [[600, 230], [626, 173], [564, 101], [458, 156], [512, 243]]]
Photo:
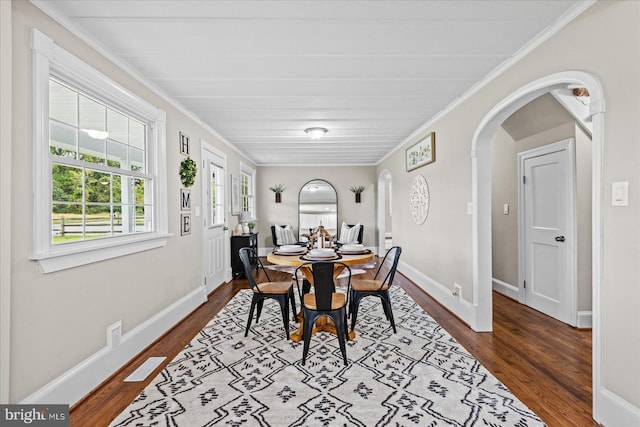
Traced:
[[259, 165], [379, 162], [579, 3], [33, 1]]

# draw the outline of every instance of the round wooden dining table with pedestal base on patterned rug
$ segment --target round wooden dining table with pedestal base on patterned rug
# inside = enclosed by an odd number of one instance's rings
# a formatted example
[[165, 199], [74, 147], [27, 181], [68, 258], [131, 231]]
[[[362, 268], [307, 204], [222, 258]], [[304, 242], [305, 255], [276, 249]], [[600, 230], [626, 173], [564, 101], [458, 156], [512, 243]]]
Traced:
[[[278, 254], [274, 252], [269, 252], [267, 254], [267, 261], [270, 262], [271, 264], [285, 265], [289, 267], [298, 267], [299, 265], [304, 264], [305, 262], [313, 262], [313, 261], [342, 262], [344, 264], [347, 264], [348, 266], [352, 266], [352, 265], [369, 262], [373, 259], [373, 257], [374, 257], [373, 252], [366, 251], [364, 253], [358, 253], [358, 254], [340, 254], [340, 257], [336, 259], [328, 259], [328, 260], [313, 259], [312, 260], [312, 259], [305, 259], [305, 257], [301, 256], [300, 254], [283, 255], [283, 254]], [[344, 270], [344, 267], [340, 267], [340, 264], [336, 265], [336, 268], [334, 269], [334, 272], [333, 272], [333, 279], [336, 280], [343, 270]], [[301, 268], [300, 271], [304, 275], [305, 279], [307, 279], [309, 283], [313, 286], [313, 274], [311, 272], [311, 269]], [[298, 313], [298, 318], [302, 319], [302, 311]], [[291, 341], [293, 342], [302, 341], [303, 329], [304, 328], [301, 325], [297, 331], [292, 333]], [[334, 335], [336, 334], [336, 328], [333, 325], [333, 321], [331, 321], [331, 319], [328, 319], [326, 316], [323, 316], [318, 320], [316, 320], [312, 334], [315, 334], [316, 332], [321, 332], [321, 331], [329, 332]], [[352, 340], [355, 337], [356, 337], [355, 332], [349, 331], [349, 339]]]

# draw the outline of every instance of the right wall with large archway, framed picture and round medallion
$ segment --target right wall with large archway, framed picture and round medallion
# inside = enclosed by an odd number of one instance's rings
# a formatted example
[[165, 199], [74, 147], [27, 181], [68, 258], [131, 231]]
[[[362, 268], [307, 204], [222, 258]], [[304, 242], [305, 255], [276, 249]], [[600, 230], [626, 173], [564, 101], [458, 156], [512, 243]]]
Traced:
[[[597, 2], [498, 78], [433, 122], [378, 165], [394, 182], [394, 242], [418, 275], [443, 288], [463, 286], [473, 300], [471, 142], [484, 116], [518, 88], [543, 76], [583, 70], [600, 79], [606, 100], [604, 126], [604, 295], [601, 304], [602, 387], [600, 396], [640, 419], [640, 3]], [[436, 133], [435, 163], [405, 172], [404, 149], [427, 132]], [[427, 222], [409, 216], [408, 188], [422, 174], [429, 182]], [[611, 183], [629, 181], [628, 207], [615, 208]], [[405, 256], [406, 254], [406, 256]], [[437, 289], [437, 287], [436, 287]], [[444, 295], [444, 294], [443, 294]], [[455, 302], [445, 300], [455, 307]]]

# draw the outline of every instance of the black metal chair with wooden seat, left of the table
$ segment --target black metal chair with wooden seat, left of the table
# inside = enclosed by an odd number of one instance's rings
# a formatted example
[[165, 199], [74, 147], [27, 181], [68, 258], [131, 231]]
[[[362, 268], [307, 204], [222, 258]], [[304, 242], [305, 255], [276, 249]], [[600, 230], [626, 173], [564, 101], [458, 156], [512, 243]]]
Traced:
[[[253, 291], [253, 298], [251, 299], [251, 308], [249, 309], [249, 318], [247, 319], [247, 328], [244, 332], [244, 336], [246, 337], [249, 333], [249, 328], [251, 327], [251, 320], [253, 319], [253, 312], [258, 307], [258, 312], [256, 314], [256, 323], [260, 319], [260, 314], [262, 313], [262, 305], [264, 304], [264, 300], [266, 299], [274, 299], [278, 301], [280, 304], [280, 309], [282, 311], [282, 320], [284, 321], [284, 330], [287, 334], [287, 339], [289, 339], [289, 301], [291, 301], [291, 307], [293, 309], [293, 313], [295, 315], [296, 312], [296, 302], [293, 294], [293, 281], [289, 282], [272, 282], [271, 278], [269, 278], [269, 274], [267, 270], [264, 268], [262, 261], [258, 258], [256, 251], [253, 248], [240, 248], [240, 260], [242, 261], [242, 265], [244, 266], [245, 275], [247, 276], [247, 280], [249, 281], [249, 287]], [[264, 272], [267, 277], [266, 282], [256, 283], [253, 277], [253, 268], [251, 265], [251, 260], [258, 260], [257, 271]]]

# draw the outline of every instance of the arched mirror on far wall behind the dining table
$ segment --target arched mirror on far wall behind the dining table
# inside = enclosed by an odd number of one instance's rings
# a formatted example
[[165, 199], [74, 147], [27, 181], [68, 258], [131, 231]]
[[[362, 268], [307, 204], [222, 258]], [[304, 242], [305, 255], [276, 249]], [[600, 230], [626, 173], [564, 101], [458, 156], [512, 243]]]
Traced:
[[323, 179], [307, 182], [298, 195], [299, 240], [320, 224], [333, 236], [338, 232], [338, 193], [333, 185]]

